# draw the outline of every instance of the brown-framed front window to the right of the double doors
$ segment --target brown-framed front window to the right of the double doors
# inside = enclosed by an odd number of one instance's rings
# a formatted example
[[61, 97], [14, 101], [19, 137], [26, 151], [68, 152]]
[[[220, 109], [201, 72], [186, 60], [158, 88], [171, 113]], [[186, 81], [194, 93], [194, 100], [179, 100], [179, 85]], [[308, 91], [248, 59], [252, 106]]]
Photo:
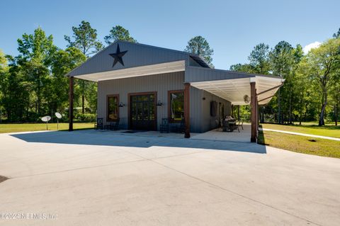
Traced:
[[169, 91], [169, 119], [172, 122], [184, 118], [184, 91]]

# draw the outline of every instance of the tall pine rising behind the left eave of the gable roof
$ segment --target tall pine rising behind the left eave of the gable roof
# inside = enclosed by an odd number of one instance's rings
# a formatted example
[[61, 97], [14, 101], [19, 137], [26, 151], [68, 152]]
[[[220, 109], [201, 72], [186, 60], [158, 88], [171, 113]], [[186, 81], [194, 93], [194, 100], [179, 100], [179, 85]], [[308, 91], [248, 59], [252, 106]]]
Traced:
[[[69, 36], [64, 35], [64, 39], [69, 43], [67, 47], [76, 47], [81, 50], [86, 57], [89, 57], [89, 55], [92, 55], [103, 48], [103, 45], [97, 39], [96, 29], [92, 28], [89, 22], [81, 21], [81, 24], [79, 24], [78, 27], [72, 27], [72, 30], [73, 41]], [[86, 92], [92, 90], [91, 86], [94, 86], [94, 83], [79, 79], [79, 81], [76, 81], [76, 84], [81, 91], [81, 112], [84, 114]]]

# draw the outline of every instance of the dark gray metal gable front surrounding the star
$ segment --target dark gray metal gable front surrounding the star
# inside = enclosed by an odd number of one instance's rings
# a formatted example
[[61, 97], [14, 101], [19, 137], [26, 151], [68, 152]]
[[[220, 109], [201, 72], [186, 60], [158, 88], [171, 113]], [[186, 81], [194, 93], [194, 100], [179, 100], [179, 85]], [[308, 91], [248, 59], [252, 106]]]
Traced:
[[[116, 52], [118, 45], [120, 51], [127, 51], [123, 55], [123, 64], [119, 62], [113, 66], [114, 58], [111, 56]], [[209, 64], [199, 55], [183, 52], [179, 50], [170, 50], [163, 47], [145, 45], [140, 43], [130, 43], [123, 40], [117, 40], [108, 47], [99, 51], [96, 55], [89, 58], [76, 67], [66, 76], [74, 77], [81, 74], [94, 74], [98, 72], [109, 72], [118, 69], [128, 69], [132, 67], [141, 67], [152, 64], [162, 64], [166, 62], [176, 62], [179, 60], [189, 61], [191, 57], [200, 67], [210, 68]]]

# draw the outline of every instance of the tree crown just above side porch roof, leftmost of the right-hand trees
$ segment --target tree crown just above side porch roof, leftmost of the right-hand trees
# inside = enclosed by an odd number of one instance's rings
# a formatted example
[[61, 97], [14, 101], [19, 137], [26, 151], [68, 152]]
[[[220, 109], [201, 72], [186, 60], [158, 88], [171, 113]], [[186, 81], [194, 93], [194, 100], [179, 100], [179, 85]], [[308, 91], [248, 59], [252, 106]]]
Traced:
[[248, 60], [250, 62], [251, 67], [254, 68], [256, 73], [260, 74], [268, 74], [269, 62], [268, 62], [268, 54], [269, 54], [269, 45], [264, 43], [260, 43], [254, 47], [254, 50], [250, 52]]

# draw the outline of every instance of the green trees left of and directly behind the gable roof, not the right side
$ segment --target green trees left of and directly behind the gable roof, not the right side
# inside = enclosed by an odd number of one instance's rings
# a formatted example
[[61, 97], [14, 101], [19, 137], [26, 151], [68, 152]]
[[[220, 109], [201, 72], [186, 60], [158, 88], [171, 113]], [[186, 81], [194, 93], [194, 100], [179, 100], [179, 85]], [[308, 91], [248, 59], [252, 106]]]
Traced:
[[[68, 79], [64, 75], [115, 40], [137, 43], [129, 30], [114, 26], [98, 39], [96, 29], [87, 21], [72, 27], [72, 35], [64, 35], [67, 47], [63, 50], [53, 43], [53, 36], [38, 27], [33, 34], [18, 38], [19, 55], [5, 55], [0, 50], [0, 115], [8, 123], [38, 122], [43, 115], [55, 112], [68, 118]], [[190, 52], [212, 54], [209, 44], [200, 36], [188, 44]], [[196, 43], [200, 42], [199, 45]], [[202, 53], [202, 54], [201, 54]], [[211, 57], [205, 59], [211, 64]], [[96, 117], [96, 83], [75, 80], [75, 119], [86, 121]], [[3, 120], [4, 121], [4, 120]]]

